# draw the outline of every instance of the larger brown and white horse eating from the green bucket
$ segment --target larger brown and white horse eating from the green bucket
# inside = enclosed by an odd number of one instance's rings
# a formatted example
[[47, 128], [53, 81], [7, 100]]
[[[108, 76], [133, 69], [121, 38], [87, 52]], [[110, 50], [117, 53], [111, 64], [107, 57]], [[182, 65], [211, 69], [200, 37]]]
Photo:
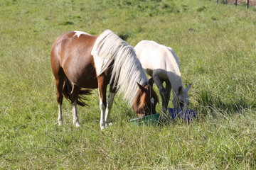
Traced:
[[123, 94], [138, 116], [156, 113], [158, 97], [152, 88], [154, 81], [146, 79], [133, 47], [111, 30], [97, 36], [81, 31], [65, 33], [55, 41], [50, 57], [57, 88], [59, 125], [63, 123], [63, 95], [72, 103], [73, 123], [79, 127], [77, 104], [85, 106], [82, 95], [97, 88], [102, 130], [109, 123], [116, 92]]

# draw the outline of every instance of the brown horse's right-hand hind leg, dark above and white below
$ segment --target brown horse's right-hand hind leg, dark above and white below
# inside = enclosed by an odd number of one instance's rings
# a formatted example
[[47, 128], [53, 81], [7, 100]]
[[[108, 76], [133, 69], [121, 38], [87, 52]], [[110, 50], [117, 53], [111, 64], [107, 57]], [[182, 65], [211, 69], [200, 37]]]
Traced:
[[77, 108], [77, 99], [78, 99], [78, 94], [80, 91], [80, 87], [79, 86], [75, 86], [75, 84], [73, 84], [73, 89], [71, 91], [70, 94], [70, 101], [72, 103], [72, 115], [73, 115], [73, 124], [75, 125], [75, 127], [80, 127], [80, 123], [78, 120], [78, 108]]

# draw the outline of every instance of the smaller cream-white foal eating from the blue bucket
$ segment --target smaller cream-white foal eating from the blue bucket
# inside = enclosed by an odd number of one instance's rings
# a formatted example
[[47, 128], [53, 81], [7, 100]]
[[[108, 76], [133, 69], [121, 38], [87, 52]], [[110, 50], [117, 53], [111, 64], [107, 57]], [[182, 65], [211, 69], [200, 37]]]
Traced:
[[[186, 88], [183, 87], [180, 65], [174, 50], [149, 40], [142, 40], [134, 47], [134, 50], [145, 72], [153, 77], [159, 88], [162, 99], [161, 111], [166, 113], [171, 89], [174, 94], [172, 101], [174, 108], [186, 110], [189, 103], [188, 90], [191, 84], [188, 84]], [[166, 88], [163, 86], [164, 81]]]

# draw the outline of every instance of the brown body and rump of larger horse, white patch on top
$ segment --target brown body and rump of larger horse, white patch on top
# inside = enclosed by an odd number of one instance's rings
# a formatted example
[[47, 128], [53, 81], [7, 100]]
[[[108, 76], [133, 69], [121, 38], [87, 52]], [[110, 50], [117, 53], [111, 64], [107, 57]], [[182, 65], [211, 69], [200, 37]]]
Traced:
[[[63, 69], [66, 77], [79, 86], [86, 87], [86, 81], [96, 82], [91, 55], [96, 39], [97, 36], [81, 31], [70, 31], [60, 36], [51, 51], [53, 74]], [[97, 86], [94, 84], [93, 87]]]

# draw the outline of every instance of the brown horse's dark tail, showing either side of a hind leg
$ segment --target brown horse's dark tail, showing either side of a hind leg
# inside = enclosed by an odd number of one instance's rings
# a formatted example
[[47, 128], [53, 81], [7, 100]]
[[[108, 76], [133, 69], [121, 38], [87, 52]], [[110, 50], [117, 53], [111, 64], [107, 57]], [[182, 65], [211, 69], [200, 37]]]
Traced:
[[[73, 85], [71, 84], [70, 80], [66, 78], [63, 86], [63, 95], [68, 99], [68, 101], [71, 101], [72, 87]], [[77, 104], [80, 106], [87, 106], [83, 100], [86, 100], [85, 95], [89, 94], [91, 94], [90, 89], [80, 89], [78, 93]]]

